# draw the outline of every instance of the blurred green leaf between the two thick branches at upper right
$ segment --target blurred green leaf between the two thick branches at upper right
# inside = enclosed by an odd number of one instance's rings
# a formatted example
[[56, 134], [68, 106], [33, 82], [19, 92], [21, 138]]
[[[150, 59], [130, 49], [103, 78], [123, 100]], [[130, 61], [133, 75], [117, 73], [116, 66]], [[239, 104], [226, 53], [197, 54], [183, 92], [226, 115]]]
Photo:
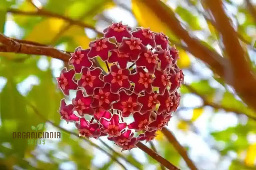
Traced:
[[193, 15], [189, 10], [182, 6], [178, 6], [175, 12], [182, 18], [182, 20], [189, 24], [192, 30], [202, 30], [198, 17]]

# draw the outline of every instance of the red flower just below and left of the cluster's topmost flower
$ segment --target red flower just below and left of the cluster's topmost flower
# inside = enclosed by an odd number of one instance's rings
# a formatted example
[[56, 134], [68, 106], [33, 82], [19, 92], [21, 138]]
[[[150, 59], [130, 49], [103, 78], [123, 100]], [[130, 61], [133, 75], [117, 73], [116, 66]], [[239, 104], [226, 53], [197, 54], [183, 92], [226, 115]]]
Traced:
[[109, 38], [96, 38], [96, 41], [90, 42], [89, 46], [91, 47], [88, 57], [94, 58], [100, 56], [103, 61], [108, 60], [108, 52], [114, 48], [116, 45], [109, 41]]

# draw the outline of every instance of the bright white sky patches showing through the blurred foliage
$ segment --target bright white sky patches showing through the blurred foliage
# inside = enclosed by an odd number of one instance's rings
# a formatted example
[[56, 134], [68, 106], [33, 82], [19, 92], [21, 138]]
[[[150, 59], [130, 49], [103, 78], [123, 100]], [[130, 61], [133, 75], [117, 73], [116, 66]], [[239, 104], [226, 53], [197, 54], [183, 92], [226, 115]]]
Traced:
[[[21, 0], [20, 0], [21, 1]], [[40, 5], [40, 2], [42, 3], [42, 0], [36, 1], [36, 3], [38, 5]], [[127, 3], [128, 6], [130, 6], [130, 1], [120, 1], [122, 3]], [[181, 2], [181, 1], [180, 1]], [[241, 4], [243, 1], [242, 0], [233, 0], [234, 3], [236, 4]], [[256, 3], [256, 1], [254, 1]], [[177, 5], [178, 1], [174, 0], [174, 1], [168, 1], [168, 4], [171, 7], [175, 7]], [[236, 9], [230, 8], [228, 7], [229, 12], [236, 12]], [[136, 27], [136, 20], [133, 18], [133, 16], [127, 12], [124, 11], [122, 8], [120, 7], [115, 7], [109, 10], [106, 10], [104, 12], [105, 16], [108, 16], [109, 18], [111, 18], [113, 21], [115, 22], [119, 22], [120, 20], [123, 21], [124, 24], [129, 24], [132, 27]], [[240, 22], [243, 22], [243, 16], [240, 17]], [[202, 21], [202, 25], [204, 25], [205, 21]], [[107, 27], [108, 25], [106, 24], [97, 24], [97, 29], [99, 31], [102, 31], [105, 27]], [[17, 24], [15, 24], [12, 20], [11, 17], [8, 16], [8, 21], [6, 22], [5, 25], [5, 35], [7, 36], [15, 36], [17, 38], [21, 38], [23, 35], [23, 31], [17, 26]], [[89, 37], [93, 37], [94, 33], [92, 33], [90, 30], [86, 30], [86, 34]], [[63, 49], [65, 50], [65, 46], [58, 46], [59, 49]], [[216, 49], [219, 50], [217, 44], [216, 44]], [[212, 72], [211, 70], [207, 69], [205, 67], [204, 64], [200, 64], [194, 57], [191, 57], [191, 62], [193, 65], [193, 68], [195, 68], [196, 71], [200, 72], [200, 76], [195, 76], [195, 75], [191, 75], [188, 71], [184, 71], [185, 76], [185, 83], [191, 83], [193, 81], [199, 80], [201, 77], [204, 78], [209, 78], [211, 81], [211, 85], [213, 87], [218, 87], [219, 88], [219, 93], [221, 94], [223, 92], [223, 87], [221, 87], [218, 83], [216, 83], [216, 81], [214, 81], [211, 76], [212, 76]], [[46, 60], [46, 57], [41, 57], [41, 59], [38, 62], [38, 67], [41, 70], [46, 70], [48, 67], [51, 67], [51, 69], [53, 70], [53, 74], [54, 76], [58, 76], [60, 74], [60, 70], [63, 68], [63, 62], [58, 60], [58, 59], [52, 59], [51, 63], [49, 63]], [[203, 71], [202, 71], [203, 70]], [[4, 87], [6, 83], [6, 79], [3, 77], [0, 77], [0, 91], [2, 90], [2, 88]], [[27, 79], [25, 79], [22, 83], [17, 85], [17, 89], [19, 90], [19, 92], [23, 95], [25, 95], [29, 90], [31, 90], [31, 88], [34, 85], [37, 85], [39, 83], [38, 78], [34, 75], [30, 75], [29, 77], [27, 77]], [[74, 97], [75, 93], [71, 93], [72, 97]], [[198, 98], [195, 95], [191, 95], [191, 94], [187, 94], [184, 95], [182, 97], [181, 100], [181, 105], [182, 106], [186, 106], [186, 107], [197, 107], [197, 106], [201, 106], [202, 105], [202, 100], [200, 98]], [[183, 117], [184, 119], [190, 119], [192, 117], [192, 110], [183, 110], [180, 111], [180, 115], [181, 117]], [[53, 114], [58, 114], [53, 113]], [[247, 119], [245, 118], [245, 116], [240, 116], [238, 117], [235, 114], [232, 113], [225, 113], [222, 111], [219, 111], [218, 113], [215, 113], [214, 115], [212, 115], [212, 109], [209, 107], [206, 107], [204, 110], [204, 113], [195, 121], [194, 125], [195, 127], [199, 130], [198, 134], [195, 134], [191, 131], [184, 133], [182, 130], [177, 129], [177, 123], [178, 123], [178, 119], [174, 114], [174, 117], [170, 120], [167, 128], [172, 130], [172, 132], [175, 134], [176, 138], [178, 139], [178, 141], [184, 145], [184, 146], [189, 146], [190, 150], [189, 150], [189, 156], [193, 159], [193, 161], [195, 161], [198, 165], [198, 167], [200, 169], [228, 169], [229, 164], [231, 163], [231, 158], [237, 158], [237, 155], [235, 152], [230, 152], [228, 153], [229, 157], [224, 157], [220, 159], [219, 154], [215, 151], [210, 149], [209, 146], [213, 146], [214, 144], [216, 144], [216, 142], [214, 141], [214, 139], [211, 137], [210, 133], [216, 130], [224, 130], [228, 127], [232, 127], [232, 126], [236, 126], [238, 123], [242, 123], [245, 124], [247, 122]], [[1, 123], [1, 122], [0, 122]], [[0, 124], [1, 125], [1, 124]], [[74, 124], [69, 123], [67, 124], [66, 122], [61, 122], [61, 126], [63, 128], [72, 130], [74, 129]], [[47, 126], [47, 128], [54, 130], [54, 127], [51, 127], [50, 125]], [[55, 129], [57, 131], [57, 129]], [[116, 147], [113, 145], [113, 142], [108, 141], [106, 138], [102, 138], [104, 139], [104, 141], [106, 143], [108, 143], [110, 146], [113, 146], [114, 148], [116, 148], [116, 150], [120, 150], [120, 148]], [[252, 134], [251, 137], [249, 137], [250, 142], [256, 142], [256, 135]], [[234, 136], [232, 137], [232, 140], [236, 140], [236, 136], [234, 134]], [[102, 146], [101, 142], [99, 142], [98, 140], [92, 139], [93, 142], [97, 143], [98, 145]], [[49, 142], [47, 143], [47, 145], [41, 145], [39, 146], [40, 149], [43, 149], [45, 151], [49, 150], [49, 149], [55, 149], [56, 148], [56, 144], [57, 144], [57, 140], [53, 140], [51, 144], [49, 144]], [[82, 141], [81, 141], [82, 142]], [[155, 145], [157, 146], [158, 143], [154, 140]], [[88, 144], [83, 143], [83, 146], [86, 148], [91, 148], [88, 147]], [[215, 145], [216, 146], [216, 145]], [[223, 147], [223, 143], [218, 143], [218, 146], [216, 147]], [[129, 151], [124, 151], [124, 154], [127, 154]], [[140, 149], [135, 148], [132, 149], [130, 151], [134, 157], [141, 163], [146, 163], [147, 162], [147, 158], [146, 155], [144, 154], [144, 152], [142, 152]], [[106, 162], [108, 162], [110, 159], [109, 157], [105, 154], [102, 153], [101, 151], [93, 148], [92, 149], [92, 153], [95, 154], [95, 157], [93, 159], [93, 164], [96, 166], [103, 166]], [[57, 154], [58, 157], [67, 157], [68, 155], [66, 153], [60, 152]], [[46, 160], [47, 158], [43, 155], [38, 153], [38, 158], [42, 159], [42, 160]], [[50, 161], [50, 160], [48, 160]], [[218, 164], [219, 167], [216, 167], [216, 164], [218, 162], [221, 162], [221, 164]], [[126, 164], [123, 160], [120, 159], [120, 162], [122, 162], [124, 165], [126, 165], [126, 167], [130, 170], [134, 169], [134, 167], [130, 166], [129, 164]], [[181, 167], [182, 169], [186, 169], [186, 164], [184, 161], [181, 162], [181, 164], [183, 165], [183, 167]], [[66, 162], [60, 165], [61, 169], [74, 169], [75, 164], [72, 162]], [[114, 164], [113, 167], [111, 167], [110, 169], [113, 170], [118, 170], [120, 169], [120, 166], [118, 164]], [[152, 170], [155, 169], [154, 166], [146, 166], [145, 169], [148, 170]]]

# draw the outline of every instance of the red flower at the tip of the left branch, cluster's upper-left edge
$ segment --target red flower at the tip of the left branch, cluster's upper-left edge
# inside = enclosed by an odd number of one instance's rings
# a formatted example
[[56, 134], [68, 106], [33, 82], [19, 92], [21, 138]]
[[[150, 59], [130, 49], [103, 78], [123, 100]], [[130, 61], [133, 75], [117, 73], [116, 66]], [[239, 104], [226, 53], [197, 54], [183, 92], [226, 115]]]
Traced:
[[70, 53], [69, 65], [73, 65], [77, 73], [81, 72], [82, 67], [92, 66], [92, 62], [87, 57], [89, 51], [90, 49], [82, 50], [82, 47], [77, 47], [74, 53]]

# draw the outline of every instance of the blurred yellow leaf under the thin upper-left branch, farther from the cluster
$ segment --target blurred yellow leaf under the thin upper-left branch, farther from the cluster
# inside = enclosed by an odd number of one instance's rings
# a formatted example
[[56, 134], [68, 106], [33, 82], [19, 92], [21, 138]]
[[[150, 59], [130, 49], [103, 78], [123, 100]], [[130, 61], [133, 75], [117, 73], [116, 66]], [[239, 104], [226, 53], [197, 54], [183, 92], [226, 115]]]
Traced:
[[29, 41], [39, 43], [50, 43], [52, 38], [67, 24], [64, 20], [58, 18], [48, 18], [38, 23], [25, 38]]

